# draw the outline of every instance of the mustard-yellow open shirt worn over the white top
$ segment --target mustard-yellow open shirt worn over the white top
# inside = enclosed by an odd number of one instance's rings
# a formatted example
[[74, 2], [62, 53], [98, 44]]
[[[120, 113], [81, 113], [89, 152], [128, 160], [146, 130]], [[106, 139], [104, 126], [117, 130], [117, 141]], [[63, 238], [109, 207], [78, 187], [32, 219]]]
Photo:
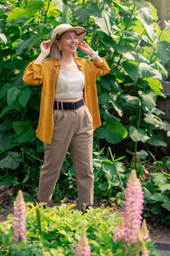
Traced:
[[[77, 67], [85, 77], [84, 102], [93, 117], [94, 130], [101, 125], [96, 89], [96, 78], [110, 72], [105, 59], [101, 62], [91, 62], [82, 58], [75, 58]], [[54, 95], [59, 76], [60, 62], [46, 59], [42, 64], [34, 64], [32, 61], [23, 76], [26, 84], [42, 84], [40, 114], [37, 126], [37, 137], [44, 143], [50, 144], [54, 133]]]

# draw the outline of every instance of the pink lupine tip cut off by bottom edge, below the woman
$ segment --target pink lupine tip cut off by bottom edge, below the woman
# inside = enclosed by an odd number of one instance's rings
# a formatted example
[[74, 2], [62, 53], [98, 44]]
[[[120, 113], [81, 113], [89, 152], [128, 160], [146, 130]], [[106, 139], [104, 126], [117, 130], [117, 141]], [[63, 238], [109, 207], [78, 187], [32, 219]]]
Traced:
[[80, 240], [77, 243], [76, 248], [77, 254], [75, 256], [90, 256], [91, 255], [91, 249], [88, 245], [88, 238], [86, 236], [85, 230], [82, 230], [82, 236]]

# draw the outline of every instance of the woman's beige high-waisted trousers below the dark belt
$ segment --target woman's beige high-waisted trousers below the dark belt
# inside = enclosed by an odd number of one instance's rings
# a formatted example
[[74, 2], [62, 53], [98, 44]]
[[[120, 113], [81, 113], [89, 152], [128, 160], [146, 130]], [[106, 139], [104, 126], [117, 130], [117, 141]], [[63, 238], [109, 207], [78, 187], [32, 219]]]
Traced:
[[86, 105], [54, 110], [54, 135], [51, 144], [44, 144], [38, 201], [51, 202], [65, 155], [70, 149], [77, 177], [78, 204], [94, 204], [93, 133], [92, 116]]

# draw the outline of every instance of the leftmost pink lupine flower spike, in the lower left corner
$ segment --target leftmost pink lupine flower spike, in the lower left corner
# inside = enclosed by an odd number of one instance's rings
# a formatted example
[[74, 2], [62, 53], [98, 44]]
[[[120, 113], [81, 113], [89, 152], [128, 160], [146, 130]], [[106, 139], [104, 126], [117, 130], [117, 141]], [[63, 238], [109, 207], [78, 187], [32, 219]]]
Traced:
[[26, 243], [26, 205], [21, 190], [14, 202], [13, 232], [15, 245], [17, 245], [19, 238]]

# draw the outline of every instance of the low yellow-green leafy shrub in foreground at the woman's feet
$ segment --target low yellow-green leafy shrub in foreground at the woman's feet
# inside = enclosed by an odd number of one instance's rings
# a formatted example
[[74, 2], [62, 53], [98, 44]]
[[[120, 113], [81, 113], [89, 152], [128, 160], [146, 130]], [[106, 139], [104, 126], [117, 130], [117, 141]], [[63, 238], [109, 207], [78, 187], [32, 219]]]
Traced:
[[[37, 207], [27, 204], [26, 207], [26, 229], [27, 245], [19, 241], [19, 247], [12, 244], [12, 220], [0, 224], [0, 255], [75, 255], [77, 241], [82, 235], [82, 227], [85, 227], [88, 243], [91, 246], [92, 255], [125, 255], [122, 242], [115, 244], [112, 240], [113, 232], [119, 221], [116, 213], [109, 214], [109, 208], [92, 208], [82, 214], [77, 210], [73, 211], [74, 205], [43, 209], [38, 207], [41, 214], [41, 234], [40, 223], [37, 223]], [[8, 232], [9, 230], [9, 232]], [[156, 253], [153, 242], [148, 242], [150, 255]], [[129, 255], [133, 255], [133, 248], [129, 248]], [[27, 253], [27, 254], [26, 254]], [[28, 254], [30, 253], [30, 254]]]

